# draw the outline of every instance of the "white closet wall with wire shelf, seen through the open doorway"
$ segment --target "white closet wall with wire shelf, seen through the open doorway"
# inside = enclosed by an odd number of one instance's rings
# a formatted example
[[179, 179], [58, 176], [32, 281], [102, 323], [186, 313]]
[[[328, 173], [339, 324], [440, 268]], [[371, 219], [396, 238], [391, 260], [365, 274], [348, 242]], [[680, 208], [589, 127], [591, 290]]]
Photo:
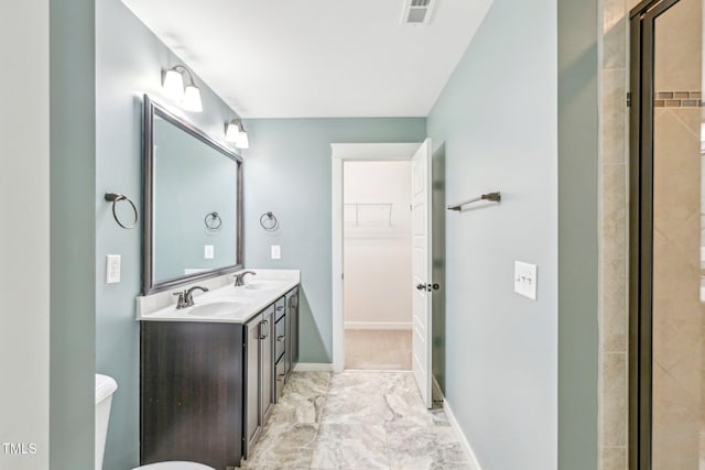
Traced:
[[345, 163], [348, 329], [411, 329], [410, 201], [410, 162]]

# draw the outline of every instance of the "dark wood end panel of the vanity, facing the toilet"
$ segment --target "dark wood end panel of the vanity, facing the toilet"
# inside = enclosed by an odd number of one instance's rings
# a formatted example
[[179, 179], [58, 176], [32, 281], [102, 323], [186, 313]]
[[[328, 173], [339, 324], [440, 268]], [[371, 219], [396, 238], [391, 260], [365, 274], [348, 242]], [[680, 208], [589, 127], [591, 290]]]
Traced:
[[242, 457], [241, 324], [142, 321], [140, 462], [216, 470]]

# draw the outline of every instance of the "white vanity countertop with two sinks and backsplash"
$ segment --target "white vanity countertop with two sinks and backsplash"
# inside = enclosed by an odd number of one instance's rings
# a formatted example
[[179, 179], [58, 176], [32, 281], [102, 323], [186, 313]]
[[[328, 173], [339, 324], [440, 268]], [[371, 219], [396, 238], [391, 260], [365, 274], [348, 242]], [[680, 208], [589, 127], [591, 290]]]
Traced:
[[[206, 293], [194, 293], [194, 306], [176, 308], [172, 292], [155, 294], [159, 298], [138, 297], [139, 321], [209, 321], [246, 323], [264, 307], [274, 303], [300, 283], [297, 270], [248, 270], [256, 275], [245, 277], [245, 286], [232, 283], [210, 288]], [[231, 278], [232, 275], [229, 275]], [[199, 283], [205, 284], [205, 283]], [[185, 288], [188, 288], [186, 286]], [[184, 287], [175, 292], [183, 291]], [[158, 306], [171, 300], [167, 306]], [[149, 309], [149, 306], [158, 306]], [[150, 310], [150, 311], [145, 311]]]

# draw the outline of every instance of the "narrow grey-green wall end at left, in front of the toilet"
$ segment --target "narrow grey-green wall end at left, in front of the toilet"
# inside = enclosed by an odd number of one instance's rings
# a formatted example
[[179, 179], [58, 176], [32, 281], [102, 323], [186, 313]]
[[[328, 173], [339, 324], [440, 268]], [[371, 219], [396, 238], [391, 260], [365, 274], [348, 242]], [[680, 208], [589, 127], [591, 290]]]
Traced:
[[97, 237], [94, 1], [53, 0], [50, 13], [50, 467], [89, 469]]

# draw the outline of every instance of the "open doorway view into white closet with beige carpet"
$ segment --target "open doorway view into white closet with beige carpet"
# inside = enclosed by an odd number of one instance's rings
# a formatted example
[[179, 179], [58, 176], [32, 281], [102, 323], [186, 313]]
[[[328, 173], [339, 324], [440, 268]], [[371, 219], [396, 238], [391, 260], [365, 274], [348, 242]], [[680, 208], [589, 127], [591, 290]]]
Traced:
[[343, 164], [345, 369], [411, 370], [411, 162]]

